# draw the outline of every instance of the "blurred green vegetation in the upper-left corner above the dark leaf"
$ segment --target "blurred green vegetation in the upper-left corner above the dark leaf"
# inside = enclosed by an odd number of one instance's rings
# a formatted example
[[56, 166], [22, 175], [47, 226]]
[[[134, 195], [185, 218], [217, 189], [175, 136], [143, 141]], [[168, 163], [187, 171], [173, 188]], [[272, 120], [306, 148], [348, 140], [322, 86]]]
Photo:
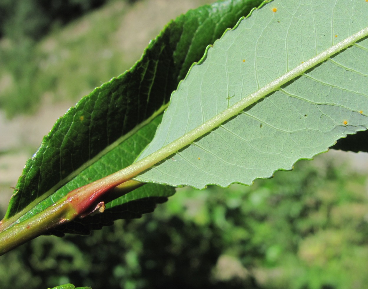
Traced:
[[[107, 0], [0, 2], [0, 108], [8, 117], [35, 113], [45, 97], [78, 100], [124, 72], [124, 55], [106, 48], [130, 1], [110, 1], [107, 15], [90, 13]], [[115, 2], [115, 3], [112, 3]], [[106, 18], [109, 17], [109, 21]], [[74, 23], [70, 23], [75, 19]], [[115, 47], [118, 49], [118, 47]], [[100, 65], [104, 59], [104, 65]], [[80, 66], [82, 63], [85, 65]], [[86, 65], [88, 64], [88, 65]], [[123, 62], [124, 65], [124, 62]], [[98, 73], [91, 72], [103, 68]]]

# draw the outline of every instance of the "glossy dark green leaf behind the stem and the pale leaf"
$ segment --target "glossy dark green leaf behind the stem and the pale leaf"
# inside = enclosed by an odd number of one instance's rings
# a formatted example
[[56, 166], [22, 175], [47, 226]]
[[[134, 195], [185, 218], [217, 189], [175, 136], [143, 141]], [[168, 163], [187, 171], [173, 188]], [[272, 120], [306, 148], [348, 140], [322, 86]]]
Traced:
[[[191, 64], [226, 28], [260, 3], [220, 1], [170, 22], [130, 71], [93, 90], [57, 120], [27, 161], [2, 225], [26, 220], [72, 189], [132, 163], [151, 141], [160, 122], [156, 115]], [[137, 217], [173, 192], [173, 188], [145, 185], [107, 204], [99, 223], [94, 223], [96, 216], [87, 216], [65, 230], [84, 234], [119, 217]]]

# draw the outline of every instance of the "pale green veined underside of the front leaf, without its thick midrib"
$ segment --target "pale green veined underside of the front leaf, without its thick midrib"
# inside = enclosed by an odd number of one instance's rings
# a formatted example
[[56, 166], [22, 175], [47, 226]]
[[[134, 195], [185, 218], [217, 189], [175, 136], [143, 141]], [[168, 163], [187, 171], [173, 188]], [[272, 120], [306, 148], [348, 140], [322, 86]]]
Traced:
[[[209, 48], [172, 95], [144, 158], [368, 26], [364, 0], [272, 1]], [[368, 39], [293, 81], [136, 180], [204, 188], [252, 184], [368, 126]]]

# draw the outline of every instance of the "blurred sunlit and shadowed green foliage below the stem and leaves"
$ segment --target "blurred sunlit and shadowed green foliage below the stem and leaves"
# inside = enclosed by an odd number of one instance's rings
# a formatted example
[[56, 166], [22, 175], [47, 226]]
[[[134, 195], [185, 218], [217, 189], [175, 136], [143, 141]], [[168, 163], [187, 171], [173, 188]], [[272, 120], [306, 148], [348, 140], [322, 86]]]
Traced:
[[367, 177], [298, 163], [252, 187], [181, 188], [91, 236], [41, 236], [0, 259], [3, 288], [346, 289], [368, 284]]

